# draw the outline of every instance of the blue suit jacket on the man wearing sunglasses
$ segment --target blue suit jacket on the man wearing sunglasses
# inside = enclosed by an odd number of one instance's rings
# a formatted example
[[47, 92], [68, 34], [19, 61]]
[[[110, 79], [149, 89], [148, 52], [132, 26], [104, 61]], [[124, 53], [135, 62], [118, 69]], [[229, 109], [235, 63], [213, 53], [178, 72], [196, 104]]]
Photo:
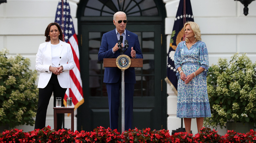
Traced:
[[[128, 40], [129, 47], [124, 52], [125, 55], [131, 57], [131, 48], [136, 51], [136, 58], [143, 58], [138, 35], [126, 30], [126, 40]], [[120, 56], [120, 51], [117, 50], [115, 54], [112, 52], [112, 48], [117, 43], [116, 29], [109, 31], [102, 36], [101, 46], [99, 47], [98, 60], [103, 61], [103, 58], [117, 58]], [[121, 70], [119, 68], [105, 68], [104, 71], [104, 83], [117, 83], [121, 78]], [[124, 71], [124, 82], [129, 84], [135, 84], [135, 71], [134, 68], [128, 68]]]

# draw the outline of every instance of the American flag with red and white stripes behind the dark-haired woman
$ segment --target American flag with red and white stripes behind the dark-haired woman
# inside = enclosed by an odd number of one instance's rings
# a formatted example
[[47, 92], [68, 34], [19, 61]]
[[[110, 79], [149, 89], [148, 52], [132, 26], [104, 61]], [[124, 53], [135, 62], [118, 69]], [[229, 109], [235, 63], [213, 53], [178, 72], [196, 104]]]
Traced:
[[67, 97], [72, 97], [72, 105], [75, 105], [76, 109], [84, 103], [84, 99], [82, 80], [80, 76], [78, 40], [75, 34], [74, 24], [70, 15], [70, 7], [67, 0], [59, 0], [55, 23], [60, 25], [63, 33], [63, 40], [71, 45], [74, 56], [75, 68], [69, 71], [71, 88], [66, 91], [64, 104], [67, 104]]

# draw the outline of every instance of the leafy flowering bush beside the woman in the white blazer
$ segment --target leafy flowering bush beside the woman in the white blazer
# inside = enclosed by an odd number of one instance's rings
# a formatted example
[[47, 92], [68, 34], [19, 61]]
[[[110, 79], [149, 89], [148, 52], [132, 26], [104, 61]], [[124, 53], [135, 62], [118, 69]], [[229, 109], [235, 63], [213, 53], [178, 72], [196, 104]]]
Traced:
[[38, 102], [37, 72], [29, 69], [28, 58], [7, 55], [6, 50], [0, 51], [0, 125], [33, 125]]

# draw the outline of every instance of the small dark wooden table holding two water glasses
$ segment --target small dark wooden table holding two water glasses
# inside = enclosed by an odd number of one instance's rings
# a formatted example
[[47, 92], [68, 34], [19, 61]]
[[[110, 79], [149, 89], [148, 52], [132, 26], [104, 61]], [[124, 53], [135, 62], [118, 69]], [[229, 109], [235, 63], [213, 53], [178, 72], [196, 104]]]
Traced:
[[71, 131], [74, 132], [74, 109], [75, 107], [53, 107], [54, 114], [54, 130], [57, 129], [57, 114], [71, 113]]

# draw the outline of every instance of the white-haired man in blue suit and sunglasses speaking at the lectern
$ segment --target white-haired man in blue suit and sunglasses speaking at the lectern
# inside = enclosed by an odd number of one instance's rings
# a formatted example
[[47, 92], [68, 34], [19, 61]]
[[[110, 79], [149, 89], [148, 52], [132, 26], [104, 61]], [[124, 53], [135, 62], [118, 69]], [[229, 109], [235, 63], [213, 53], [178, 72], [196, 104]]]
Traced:
[[[128, 40], [129, 47], [124, 52], [130, 58], [143, 58], [138, 35], [126, 30], [127, 18], [124, 12], [118, 11], [114, 14], [113, 23], [116, 28], [102, 36], [101, 46], [99, 47], [98, 60], [103, 61], [103, 58], [117, 58], [120, 56], [117, 41], [120, 36], [123, 36], [122, 47], [124, 40]], [[108, 92], [110, 128], [118, 129], [118, 109], [120, 105], [120, 89], [121, 89], [121, 70], [118, 68], [105, 68], [104, 80]], [[136, 83], [134, 68], [128, 68], [124, 71], [125, 82], [125, 125], [124, 130], [132, 129], [133, 120], [133, 93], [134, 84]]]

